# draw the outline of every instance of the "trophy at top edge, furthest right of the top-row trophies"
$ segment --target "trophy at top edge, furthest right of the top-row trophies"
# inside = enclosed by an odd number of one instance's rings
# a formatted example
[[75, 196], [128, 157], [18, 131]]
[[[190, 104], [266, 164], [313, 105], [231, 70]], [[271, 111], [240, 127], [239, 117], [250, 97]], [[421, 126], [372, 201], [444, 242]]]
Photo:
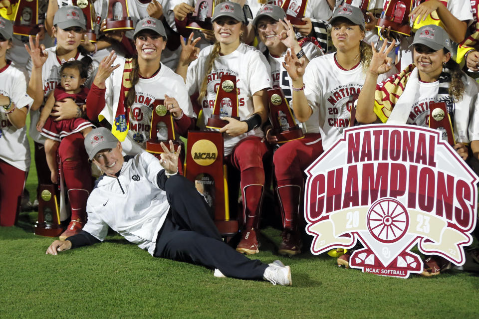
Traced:
[[380, 30], [383, 26], [391, 27], [391, 31], [411, 35], [409, 13], [411, 13], [412, 6], [413, 0], [386, 0], [376, 26]]

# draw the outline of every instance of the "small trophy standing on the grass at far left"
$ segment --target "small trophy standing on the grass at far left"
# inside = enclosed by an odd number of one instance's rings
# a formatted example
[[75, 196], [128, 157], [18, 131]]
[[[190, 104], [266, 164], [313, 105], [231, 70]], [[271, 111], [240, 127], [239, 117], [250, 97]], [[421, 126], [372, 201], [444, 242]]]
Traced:
[[53, 184], [40, 185], [38, 201], [38, 221], [34, 227], [34, 234], [46, 237], [57, 237], [63, 232], [60, 222], [60, 211]]

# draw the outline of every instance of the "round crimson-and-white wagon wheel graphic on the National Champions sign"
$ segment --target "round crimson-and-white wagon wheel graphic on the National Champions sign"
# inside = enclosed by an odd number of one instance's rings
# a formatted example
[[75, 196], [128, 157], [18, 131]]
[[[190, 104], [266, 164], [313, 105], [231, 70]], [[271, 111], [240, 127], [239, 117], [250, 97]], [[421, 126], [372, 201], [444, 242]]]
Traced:
[[409, 213], [397, 199], [383, 198], [371, 205], [366, 221], [369, 232], [376, 240], [393, 243], [408, 231]]

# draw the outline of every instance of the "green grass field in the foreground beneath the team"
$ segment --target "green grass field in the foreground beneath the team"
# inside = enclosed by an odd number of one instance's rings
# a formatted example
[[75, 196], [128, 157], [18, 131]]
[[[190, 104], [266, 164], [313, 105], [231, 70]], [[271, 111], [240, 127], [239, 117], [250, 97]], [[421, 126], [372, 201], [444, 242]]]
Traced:
[[[33, 197], [34, 166], [27, 188]], [[303, 253], [278, 257], [280, 231], [262, 230], [252, 258], [291, 266], [292, 287], [218, 279], [204, 267], [153, 258], [112, 234], [45, 255], [36, 212], [0, 228], [0, 318], [478, 318], [479, 276], [457, 270], [397, 279], [342, 269]], [[307, 250], [307, 248], [305, 248]]]

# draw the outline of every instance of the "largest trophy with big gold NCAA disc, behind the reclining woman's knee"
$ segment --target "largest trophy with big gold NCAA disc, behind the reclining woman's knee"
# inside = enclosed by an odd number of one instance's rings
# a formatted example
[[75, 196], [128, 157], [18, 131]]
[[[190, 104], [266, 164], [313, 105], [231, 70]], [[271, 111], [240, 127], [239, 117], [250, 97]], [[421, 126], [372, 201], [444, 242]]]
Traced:
[[223, 237], [238, 232], [238, 221], [230, 220], [227, 168], [223, 162], [223, 135], [219, 132], [188, 132], [185, 177], [205, 197]]

